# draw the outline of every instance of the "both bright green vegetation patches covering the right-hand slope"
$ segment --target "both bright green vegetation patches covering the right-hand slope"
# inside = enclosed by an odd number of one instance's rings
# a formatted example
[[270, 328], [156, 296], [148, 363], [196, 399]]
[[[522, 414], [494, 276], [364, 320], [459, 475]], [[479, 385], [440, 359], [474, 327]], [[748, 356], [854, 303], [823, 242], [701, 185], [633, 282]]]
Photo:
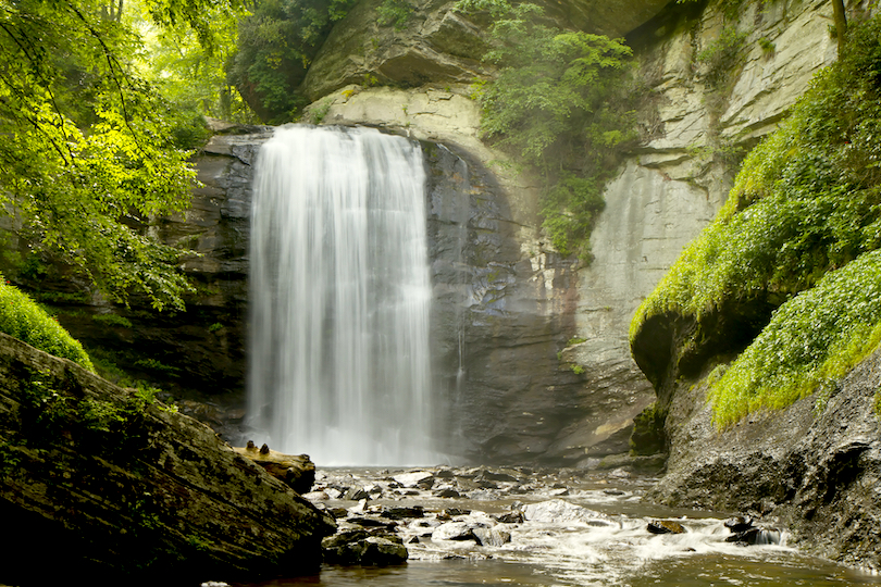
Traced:
[[720, 424], [812, 392], [878, 342], [881, 16], [854, 24], [842, 55], [749, 153], [719, 215], [631, 325], [633, 341], [653, 316], [690, 319], [697, 329], [685, 348], [705, 341], [702, 326], [725, 308], [780, 307], [714, 376]]

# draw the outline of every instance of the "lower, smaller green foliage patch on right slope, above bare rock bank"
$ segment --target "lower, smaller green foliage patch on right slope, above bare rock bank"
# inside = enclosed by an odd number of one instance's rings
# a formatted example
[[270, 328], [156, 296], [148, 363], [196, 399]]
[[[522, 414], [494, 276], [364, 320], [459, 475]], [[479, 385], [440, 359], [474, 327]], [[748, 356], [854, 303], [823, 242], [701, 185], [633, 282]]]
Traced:
[[717, 424], [785, 408], [834, 382], [881, 341], [881, 251], [868, 252], [780, 307], [710, 387]]

